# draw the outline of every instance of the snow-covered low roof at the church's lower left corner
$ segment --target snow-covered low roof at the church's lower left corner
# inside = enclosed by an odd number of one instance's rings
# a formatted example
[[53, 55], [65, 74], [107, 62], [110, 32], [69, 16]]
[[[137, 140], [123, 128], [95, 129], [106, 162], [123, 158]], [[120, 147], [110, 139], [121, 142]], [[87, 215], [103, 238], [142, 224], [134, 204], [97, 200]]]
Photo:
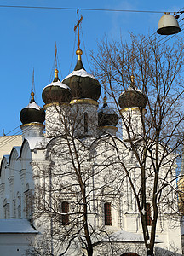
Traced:
[[38, 233], [27, 219], [0, 219], [0, 234], [2, 233]]

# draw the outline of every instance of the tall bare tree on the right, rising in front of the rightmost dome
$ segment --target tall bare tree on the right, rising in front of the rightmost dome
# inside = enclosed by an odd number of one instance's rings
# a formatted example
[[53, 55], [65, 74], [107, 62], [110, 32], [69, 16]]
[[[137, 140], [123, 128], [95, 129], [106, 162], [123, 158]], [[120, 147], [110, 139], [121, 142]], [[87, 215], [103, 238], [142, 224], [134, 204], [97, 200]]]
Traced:
[[[183, 133], [183, 42], [177, 38], [172, 46], [161, 44], [157, 38], [131, 35], [130, 44], [109, 42], [107, 38], [98, 44], [98, 52], [92, 54], [95, 76], [105, 84], [104, 90], [118, 109], [124, 126], [123, 139], [133, 152], [136, 163], [137, 187], [126, 161], [121, 160], [122, 172], [126, 172], [141, 215], [141, 226], [147, 255], [153, 255], [159, 207], [170, 207], [178, 212], [175, 196], [175, 163], [181, 154]], [[134, 78], [133, 78], [134, 76]], [[147, 114], [139, 105], [119, 108], [118, 96], [123, 91], [140, 90], [147, 101]], [[124, 97], [124, 100], [127, 101]], [[131, 101], [131, 100], [130, 100]], [[124, 102], [122, 103], [124, 105]], [[140, 107], [139, 107], [140, 106]], [[132, 114], [137, 112], [141, 132], [137, 134]], [[167, 197], [170, 193], [170, 198]], [[147, 201], [150, 209], [147, 209]], [[146, 212], [152, 212], [152, 219]], [[151, 222], [151, 230], [148, 226]]]

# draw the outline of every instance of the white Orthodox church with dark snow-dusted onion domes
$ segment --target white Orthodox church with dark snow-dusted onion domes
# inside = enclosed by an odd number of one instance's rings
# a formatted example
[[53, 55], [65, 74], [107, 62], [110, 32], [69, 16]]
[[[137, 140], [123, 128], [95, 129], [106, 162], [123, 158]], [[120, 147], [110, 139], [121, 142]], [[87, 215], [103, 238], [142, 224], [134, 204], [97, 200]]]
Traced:
[[[106, 97], [99, 108], [101, 85], [83, 67], [79, 46], [74, 71], [60, 82], [55, 69], [53, 82], [43, 88], [43, 108], [32, 92], [31, 102], [20, 111], [22, 144], [1, 161], [1, 255], [146, 255], [130, 187], [132, 181], [140, 189], [141, 176], [129, 134], [122, 122], [123, 139], [116, 136], [119, 116]], [[133, 77], [118, 103], [125, 119], [131, 115], [130, 136], [141, 148], [147, 100]], [[149, 160], [147, 166], [152, 166]], [[163, 172], [167, 168], [168, 162]], [[170, 180], [175, 168], [176, 163]], [[151, 179], [147, 184], [149, 193]], [[158, 212], [157, 252], [182, 255], [179, 218], [162, 206]], [[143, 214], [150, 231], [152, 201]]]

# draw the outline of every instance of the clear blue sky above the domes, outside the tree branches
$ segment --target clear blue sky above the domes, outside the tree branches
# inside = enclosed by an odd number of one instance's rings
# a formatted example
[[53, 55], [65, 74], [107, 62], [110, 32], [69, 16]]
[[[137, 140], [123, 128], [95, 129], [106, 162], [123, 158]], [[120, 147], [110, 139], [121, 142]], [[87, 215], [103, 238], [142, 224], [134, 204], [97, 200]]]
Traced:
[[[152, 10], [163, 11], [163, 15], [164, 11], [178, 11], [184, 8], [183, 0], [1, 0], [0, 5]], [[82, 58], [87, 71], [90, 66], [89, 52], [96, 50], [97, 40], [105, 34], [108, 38], [117, 40], [120, 33], [124, 40], [129, 40], [129, 32], [152, 34], [157, 30], [158, 20], [162, 16], [153, 13], [87, 10], [80, 11], [80, 15], [83, 15]], [[43, 106], [43, 87], [54, 77], [52, 68], [55, 60], [55, 42], [60, 62], [60, 79], [72, 72], [77, 58], [73, 55], [73, 49], [77, 49], [77, 44], [74, 46], [73, 31], [76, 22], [76, 10], [0, 7], [0, 135], [3, 135], [3, 129], [8, 133], [20, 125], [20, 110], [26, 107], [30, 99], [33, 67], [36, 101], [38, 105]]]

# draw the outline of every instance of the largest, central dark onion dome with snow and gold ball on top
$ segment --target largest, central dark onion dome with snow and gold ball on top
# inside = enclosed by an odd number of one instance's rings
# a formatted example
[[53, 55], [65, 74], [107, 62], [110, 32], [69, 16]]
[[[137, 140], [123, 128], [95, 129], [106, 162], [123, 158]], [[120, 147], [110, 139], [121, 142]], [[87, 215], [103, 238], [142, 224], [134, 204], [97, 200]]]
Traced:
[[93, 75], [85, 71], [81, 61], [83, 51], [78, 48], [76, 54], [78, 55], [76, 67], [62, 82], [71, 88], [73, 99], [89, 98], [97, 101], [101, 96], [101, 85]]

